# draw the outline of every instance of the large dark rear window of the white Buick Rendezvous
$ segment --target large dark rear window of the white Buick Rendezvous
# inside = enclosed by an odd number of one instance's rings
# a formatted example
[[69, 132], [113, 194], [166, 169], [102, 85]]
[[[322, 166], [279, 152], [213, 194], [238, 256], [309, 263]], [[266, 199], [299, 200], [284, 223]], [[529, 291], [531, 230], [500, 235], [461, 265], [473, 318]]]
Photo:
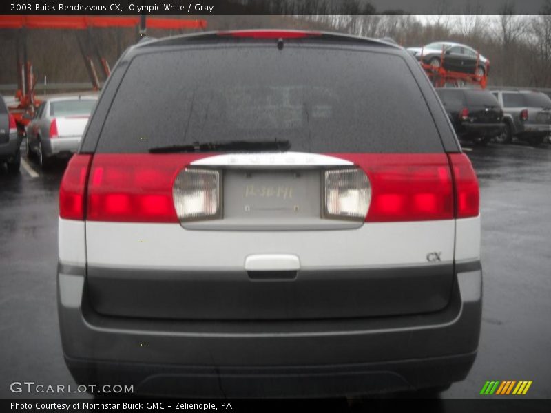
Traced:
[[136, 56], [99, 152], [229, 140], [289, 140], [291, 151], [441, 152], [401, 56], [293, 45]]

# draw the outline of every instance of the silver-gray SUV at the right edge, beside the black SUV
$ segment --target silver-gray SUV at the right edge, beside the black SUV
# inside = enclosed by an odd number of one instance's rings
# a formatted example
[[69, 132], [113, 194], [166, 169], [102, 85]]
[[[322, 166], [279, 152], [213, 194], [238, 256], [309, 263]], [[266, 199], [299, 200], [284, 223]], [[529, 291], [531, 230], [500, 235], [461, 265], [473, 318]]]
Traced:
[[497, 137], [501, 143], [513, 138], [539, 145], [551, 132], [551, 98], [542, 92], [495, 90], [503, 109], [505, 128]]

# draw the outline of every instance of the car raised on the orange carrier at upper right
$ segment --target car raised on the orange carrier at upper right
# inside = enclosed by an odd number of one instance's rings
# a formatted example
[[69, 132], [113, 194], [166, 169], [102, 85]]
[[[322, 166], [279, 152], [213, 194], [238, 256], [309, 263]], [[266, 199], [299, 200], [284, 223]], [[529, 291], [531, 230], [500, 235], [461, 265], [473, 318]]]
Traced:
[[[444, 69], [454, 72], [472, 73], [477, 76], [488, 76], [490, 61], [472, 47], [450, 41], [437, 41], [424, 47], [408, 47], [418, 61], [433, 67], [443, 65]], [[442, 62], [444, 50], [444, 62]]]

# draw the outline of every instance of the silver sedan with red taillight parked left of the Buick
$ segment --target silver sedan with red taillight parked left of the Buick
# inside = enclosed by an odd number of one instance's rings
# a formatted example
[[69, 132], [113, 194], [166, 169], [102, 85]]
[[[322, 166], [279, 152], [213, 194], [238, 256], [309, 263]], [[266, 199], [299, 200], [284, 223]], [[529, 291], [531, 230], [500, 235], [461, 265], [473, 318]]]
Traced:
[[41, 103], [27, 125], [27, 156], [46, 167], [52, 156], [70, 156], [79, 149], [96, 96], [50, 98]]

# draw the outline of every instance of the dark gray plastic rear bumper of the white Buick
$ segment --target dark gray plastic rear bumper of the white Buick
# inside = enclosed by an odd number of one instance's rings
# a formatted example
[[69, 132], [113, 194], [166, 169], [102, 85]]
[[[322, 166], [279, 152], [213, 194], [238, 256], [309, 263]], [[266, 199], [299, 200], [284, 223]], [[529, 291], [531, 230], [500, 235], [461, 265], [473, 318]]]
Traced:
[[59, 321], [79, 383], [186, 396], [328, 396], [423, 388], [466, 377], [479, 340], [481, 268], [455, 265], [451, 299], [422, 315], [300, 321], [105, 317], [85, 270], [59, 266]]

